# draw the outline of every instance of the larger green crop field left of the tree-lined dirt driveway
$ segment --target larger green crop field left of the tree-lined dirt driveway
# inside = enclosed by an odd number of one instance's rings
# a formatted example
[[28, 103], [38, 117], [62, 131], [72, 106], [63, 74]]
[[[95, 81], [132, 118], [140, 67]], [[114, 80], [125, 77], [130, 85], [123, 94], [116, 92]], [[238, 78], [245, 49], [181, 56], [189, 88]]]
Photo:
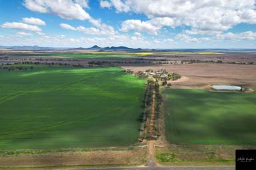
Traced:
[[121, 68], [0, 70], [0, 149], [132, 145], [144, 84]]

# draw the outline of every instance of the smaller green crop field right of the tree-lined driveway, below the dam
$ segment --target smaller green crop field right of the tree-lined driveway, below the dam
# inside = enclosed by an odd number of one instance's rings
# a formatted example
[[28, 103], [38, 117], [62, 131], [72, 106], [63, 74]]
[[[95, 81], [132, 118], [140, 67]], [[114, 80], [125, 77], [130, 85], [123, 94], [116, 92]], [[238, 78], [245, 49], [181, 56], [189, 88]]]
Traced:
[[256, 94], [163, 90], [170, 143], [256, 145]]

